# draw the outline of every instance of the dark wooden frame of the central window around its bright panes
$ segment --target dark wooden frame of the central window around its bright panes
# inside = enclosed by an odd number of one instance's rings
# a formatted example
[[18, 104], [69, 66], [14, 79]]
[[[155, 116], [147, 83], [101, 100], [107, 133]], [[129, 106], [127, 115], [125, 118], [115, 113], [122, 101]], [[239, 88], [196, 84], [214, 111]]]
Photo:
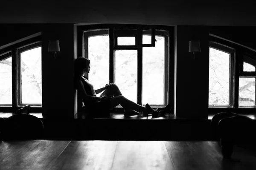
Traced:
[[[115, 38], [114, 37], [114, 28], [141, 28], [141, 29], [148, 29], [149, 26], [145, 25], [131, 25], [131, 24], [99, 24], [99, 25], [90, 25], [90, 26], [78, 26], [77, 32], [78, 32], [78, 39], [77, 39], [77, 49], [78, 49], [78, 56], [87, 57], [86, 54], [84, 54], [86, 51], [84, 50], [84, 44], [86, 42], [84, 41], [84, 31], [90, 31], [90, 30], [99, 30], [99, 29], [108, 29], [109, 30], [109, 82], [114, 82], [114, 50], [128, 50], [128, 49], [136, 49], [138, 51], [138, 56], [142, 56], [142, 47], [136, 47], [136, 45], [115, 45], [115, 41], [117, 40], [117, 37], [134, 37], [134, 34], [131, 33], [129, 36], [125, 34], [118, 34]], [[174, 85], [170, 84], [170, 79], [174, 79], [174, 76], [170, 73], [174, 71], [174, 27], [173, 26], [154, 26], [155, 28], [155, 35], [157, 34], [157, 30], [164, 30], [168, 32], [168, 38], [165, 38], [165, 76], [164, 76], [164, 91], [165, 91], [165, 99], [164, 105], [155, 105], [154, 108], [163, 108], [165, 105], [170, 103], [170, 105], [174, 106]], [[135, 32], [135, 31], [134, 31]], [[163, 31], [162, 31], [163, 32]], [[98, 34], [97, 34], [98, 35]], [[172, 39], [173, 38], [173, 39]], [[135, 44], [138, 42], [135, 40]], [[117, 43], [116, 43], [117, 44]], [[141, 69], [138, 69], [137, 72], [137, 92], [141, 91], [141, 93], [137, 93], [137, 103], [142, 105], [142, 57], [138, 57], [138, 67], [141, 65]], [[166, 74], [167, 73], [167, 74]], [[172, 81], [173, 82], [173, 81]], [[141, 101], [141, 102], [139, 102]], [[116, 110], [118, 110], [119, 107], [116, 107]], [[81, 99], [78, 97], [78, 110], [82, 111], [82, 102]]]

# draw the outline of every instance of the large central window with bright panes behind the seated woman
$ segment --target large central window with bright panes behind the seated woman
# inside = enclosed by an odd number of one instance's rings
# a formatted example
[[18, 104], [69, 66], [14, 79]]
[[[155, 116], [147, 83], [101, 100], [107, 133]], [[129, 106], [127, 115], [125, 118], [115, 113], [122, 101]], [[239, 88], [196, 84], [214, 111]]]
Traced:
[[169, 31], [156, 28], [156, 42], [151, 43], [153, 31], [145, 29], [139, 43], [137, 28], [133, 25], [81, 28], [82, 56], [91, 61], [87, 77], [95, 89], [116, 83], [126, 98], [140, 105], [167, 105]]

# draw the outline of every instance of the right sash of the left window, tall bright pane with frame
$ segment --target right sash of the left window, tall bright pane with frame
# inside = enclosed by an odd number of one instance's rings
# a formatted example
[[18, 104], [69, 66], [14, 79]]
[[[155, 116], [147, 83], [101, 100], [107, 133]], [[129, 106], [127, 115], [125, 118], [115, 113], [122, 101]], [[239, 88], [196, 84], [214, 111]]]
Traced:
[[18, 104], [42, 105], [41, 42], [17, 50]]

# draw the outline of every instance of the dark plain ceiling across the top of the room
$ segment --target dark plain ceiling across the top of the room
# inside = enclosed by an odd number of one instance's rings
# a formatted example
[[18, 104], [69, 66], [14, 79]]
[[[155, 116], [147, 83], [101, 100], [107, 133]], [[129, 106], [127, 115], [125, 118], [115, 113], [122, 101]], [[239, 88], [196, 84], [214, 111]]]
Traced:
[[[256, 26], [255, 5], [246, 0], [2, 0], [0, 23], [134, 23]], [[242, 3], [241, 3], [242, 2]]]

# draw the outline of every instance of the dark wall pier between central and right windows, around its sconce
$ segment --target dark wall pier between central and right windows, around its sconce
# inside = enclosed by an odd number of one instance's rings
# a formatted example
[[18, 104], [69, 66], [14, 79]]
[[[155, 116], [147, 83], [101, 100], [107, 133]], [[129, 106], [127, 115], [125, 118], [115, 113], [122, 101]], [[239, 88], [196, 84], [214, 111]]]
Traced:
[[[208, 117], [209, 31], [207, 26], [177, 26], [175, 31], [175, 114]], [[201, 52], [189, 53], [189, 41], [200, 40]]]

